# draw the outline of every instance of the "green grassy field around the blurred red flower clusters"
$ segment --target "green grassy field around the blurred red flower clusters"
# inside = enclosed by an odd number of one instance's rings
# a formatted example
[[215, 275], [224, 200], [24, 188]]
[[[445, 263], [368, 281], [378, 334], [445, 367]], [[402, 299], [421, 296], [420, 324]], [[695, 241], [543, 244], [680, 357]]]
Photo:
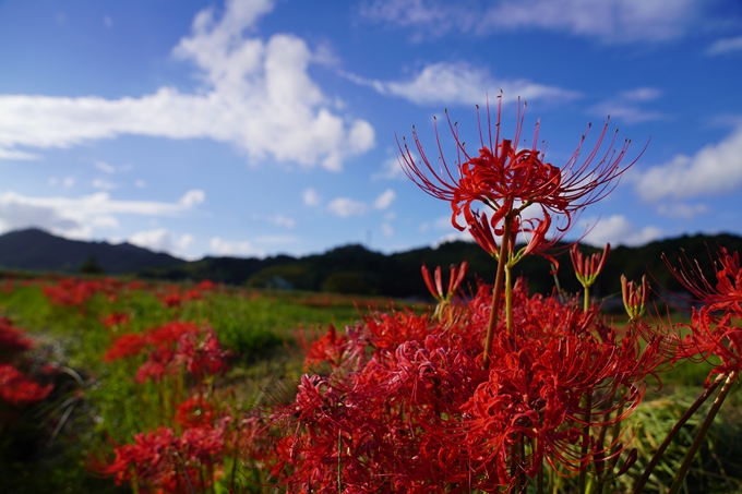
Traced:
[[[75, 297], [65, 299], [63, 293]], [[223, 375], [199, 384], [199, 389], [241, 417], [275, 400], [291, 399], [292, 386], [303, 372], [302, 341], [315, 339], [331, 324], [337, 328], [354, 324], [359, 314], [386, 309], [390, 302], [208, 285], [5, 278], [0, 285], [0, 315], [35, 341], [19, 365], [53, 384], [53, 390], [36, 403], [0, 403], [4, 407], [0, 408], [0, 492], [131, 492], [125, 483], [117, 486], [111, 475], [103, 475], [101, 462], [110, 461], [115, 446], [131, 443], [135, 434], [169, 425], [172, 403], [187, 397], [194, 384], [182, 375], [168, 376], [159, 385], [136, 383], [132, 376], [141, 359], [106, 361], [106, 352], [124, 334], [145, 334], [173, 321], [213, 328], [230, 352], [230, 365]], [[660, 376], [661, 388], [647, 391], [631, 419], [639, 449], [637, 467], [698, 395], [707, 374], [704, 364], [684, 364]], [[695, 425], [697, 421], [686, 426], [681, 441], [691, 437]], [[662, 492], [683, 447], [670, 449], [647, 492]], [[737, 458], [742, 458], [742, 401], [735, 393], [691, 471], [687, 492], [742, 492], [742, 466]], [[241, 475], [244, 492], [272, 492], [258, 484], [259, 466], [238, 463], [224, 460], [225, 471]], [[630, 472], [626, 482], [636, 477]], [[211, 489], [227, 492], [222, 484], [226, 482]]]

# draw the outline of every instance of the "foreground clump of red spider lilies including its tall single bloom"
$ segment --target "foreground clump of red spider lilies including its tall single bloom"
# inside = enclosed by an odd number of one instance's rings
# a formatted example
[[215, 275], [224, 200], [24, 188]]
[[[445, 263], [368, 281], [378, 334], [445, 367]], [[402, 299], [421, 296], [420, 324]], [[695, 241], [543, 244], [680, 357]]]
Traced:
[[[331, 371], [302, 376], [296, 400], [274, 413], [279, 435], [290, 431], [276, 443], [272, 470], [288, 491], [525, 492], [551, 468], [579, 473], [585, 492], [584, 472], [603, 484], [629, 467], [619, 465], [621, 423], [672, 358], [673, 338], [638, 323], [620, 336], [600, 318], [587, 289], [608, 249], [589, 260], [573, 253], [584, 304], [529, 297], [524, 279], [511, 279], [524, 255], [551, 258], [549, 248], [577, 215], [615, 186], [627, 143], [618, 154], [611, 143], [598, 157], [603, 128], [584, 159], [583, 136], [559, 168], [543, 161], [538, 135], [517, 149], [520, 108], [514, 138], [501, 140], [500, 112], [501, 105], [494, 136], [492, 128], [480, 131], [474, 156], [450, 123], [457, 177], [442, 154], [442, 171], [430, 164], [417, 134], [420, 164], [400, 145], [410, 179], [448, 202], [454, 227], [498, 260], [494, 286], [479, 284], [471, 298], [457, 299], [466, 265], [454, 268], [445, 293], [440, 269], [433, 282], [423, 267], [439, 302], [432, 316], [375, 313], [345, 335], [331, 328], [319, 339], [307, 363], [323, 360]], [[525, 246], [516, 250], [518, 234]]]

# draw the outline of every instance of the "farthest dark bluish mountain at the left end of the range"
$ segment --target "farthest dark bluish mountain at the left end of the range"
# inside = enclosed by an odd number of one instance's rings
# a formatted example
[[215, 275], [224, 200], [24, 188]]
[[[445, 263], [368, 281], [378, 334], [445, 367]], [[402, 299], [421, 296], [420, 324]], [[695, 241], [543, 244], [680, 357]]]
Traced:
[[84, 242], [56, 237], [37, 228], [0, 236], [0, 266], [5, 269], [77, 273], [94, 260], [104, 273], [117, 275], [184, 261], [130, 243]]

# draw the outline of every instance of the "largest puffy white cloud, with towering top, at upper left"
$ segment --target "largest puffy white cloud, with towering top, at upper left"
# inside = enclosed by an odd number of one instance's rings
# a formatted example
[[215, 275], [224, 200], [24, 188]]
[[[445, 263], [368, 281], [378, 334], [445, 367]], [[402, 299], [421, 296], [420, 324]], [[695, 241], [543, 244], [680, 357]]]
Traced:
[[204, 81], [193, 94], [160, 87], [139, 98], [0, 96], [0, 157], [28, 159], [24, 147], [67, 148], [121, 134], [206, 137], [231, 143], [251, 160], [273, 158], [339, 170], [374, 145], [364, 120], [331, 111], [310, 79], [314, 55], [291, 35], [244, 37], [272, 10], [270, 0], [228, 0], [224, 15], [199, 12], [175, 55], [193, 62]]

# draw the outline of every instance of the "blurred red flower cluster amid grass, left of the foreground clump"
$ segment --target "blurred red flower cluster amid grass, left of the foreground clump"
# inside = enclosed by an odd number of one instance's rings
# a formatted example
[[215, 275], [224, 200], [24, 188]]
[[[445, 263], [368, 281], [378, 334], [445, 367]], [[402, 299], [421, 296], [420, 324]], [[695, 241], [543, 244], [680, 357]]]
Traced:
[[145, 356], [136, 381], [160, 381], [187, 370], [196, 379], [217, 375], [228, 368], [229, 351], [222, 348], [214, 330], [195, 323], [171, 322], [142, 334], [128, 333], [113, 340], [104, 356], [107, 362]]

